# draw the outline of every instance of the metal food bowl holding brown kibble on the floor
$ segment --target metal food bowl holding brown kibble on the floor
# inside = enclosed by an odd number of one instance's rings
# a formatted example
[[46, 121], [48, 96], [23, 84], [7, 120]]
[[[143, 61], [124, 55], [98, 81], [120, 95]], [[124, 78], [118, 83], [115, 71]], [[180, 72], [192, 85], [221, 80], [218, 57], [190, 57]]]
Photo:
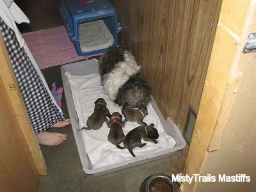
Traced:
[[179, 185], [172, 182], [172, 177], [164, 174], [155, 174], [147, 177], [140, 187], [140, 192], [177, 192]]

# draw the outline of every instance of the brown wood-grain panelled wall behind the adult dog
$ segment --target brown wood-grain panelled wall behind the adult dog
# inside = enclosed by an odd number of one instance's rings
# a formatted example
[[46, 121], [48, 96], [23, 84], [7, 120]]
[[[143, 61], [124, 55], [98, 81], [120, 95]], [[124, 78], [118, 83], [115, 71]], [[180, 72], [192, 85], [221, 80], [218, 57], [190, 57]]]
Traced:
[[111, 0], [129, 47], [164, 115], [183, 132], [189, 105], [198, 111], [218, 24], [219, 0]]

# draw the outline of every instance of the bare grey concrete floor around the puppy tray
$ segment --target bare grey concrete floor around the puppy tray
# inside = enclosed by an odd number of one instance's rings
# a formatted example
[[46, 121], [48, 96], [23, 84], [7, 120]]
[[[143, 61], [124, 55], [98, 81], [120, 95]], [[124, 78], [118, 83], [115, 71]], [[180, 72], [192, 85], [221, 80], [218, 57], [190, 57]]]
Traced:
[[[50, 88], [54, 82], [58, 87], [62, 86], [60, 66], [47, 68], [42, 72]], [[65, 95], [62, 102], [61, 108], [65, 117], [68, 118]], [[176, 174], [182, 171], [184, 166], [184, 157], [179, 151], [173, 156], [118, 172], [100, 176], [86, 175], [77, 152], [72, 127], [51, 129], [51, 131], [63, 132], [68, 135], [68, 138], [57, 147], [41, 146], [47, 164], [47, 175], [40, 177], [38, 191], [140, 191], [141, 183], [149, 175], [155, 173]]]

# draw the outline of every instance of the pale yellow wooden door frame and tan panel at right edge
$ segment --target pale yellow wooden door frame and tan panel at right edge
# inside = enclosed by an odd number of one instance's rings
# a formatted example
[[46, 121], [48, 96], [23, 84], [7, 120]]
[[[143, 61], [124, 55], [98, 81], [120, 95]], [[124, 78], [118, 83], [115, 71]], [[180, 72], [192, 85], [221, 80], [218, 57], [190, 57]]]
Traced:
[[[234, 12], [238, 10], [237, 5], [241, 9]], [[233, 23], [237, 20], [236, 27], [230, 28], [230, 18]], [[236, 31], [237, 26], [239, 31]], [[216, 182], [184, 182], [184, 191], [255, 191], [255, 54], [243, 54], [251, 29], [256, 29], [255, 1], [223, 0], [198, 118], [183, 170], [184, 175], [211, 173], [216, 176]], [[239, 88], [241, 74], [243, 81]], [[238, 88], [234, 106], [229, 106], [233, 105], [234, 96], [231, 95]], [[229, 112], [231, 116], [228, 117]], [[218, 127], [219, 123], [223, 127]], [[207, 152], [216, 147], [209, 142], [216, 140], [216, 133], [221, 132], [223, 138], [218, 150]], [[218, 180], [218, 174], [241, 173], [250, 175], [251, 182]]]

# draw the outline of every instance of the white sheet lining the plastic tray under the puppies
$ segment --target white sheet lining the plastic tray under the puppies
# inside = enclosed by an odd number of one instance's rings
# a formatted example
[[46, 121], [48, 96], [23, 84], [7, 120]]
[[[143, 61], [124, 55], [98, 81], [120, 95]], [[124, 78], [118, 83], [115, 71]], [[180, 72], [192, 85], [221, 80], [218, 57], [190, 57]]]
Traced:
[[[72, 91], [72, 97], [74, 100], [75, 108], [77, 111], [77, 116], [79, 118], [79, 126], [86, 126], [86, 121], [88, 116], [92, 115], [94, 109], [94, 102], [99, 97], [102, 97], [107, 102], [107, 108], [110, 113], [118, 111], [121, 113], [121, 108], [109, 101], [108, 96], [104, 93], [102, 86], [100, 85], [99, 74], [89, 74], [85, 76], [74, 76], [70, 72], [65, 72], [70, 83], [70, 88]], [[110, 164], [120, 163], [122, 161], [127, 161], [129, 159], [134, 159], [137, 157], [144, 157], [147, 154], [152, 154], [154, 152], [160, 152], [174, 147], [175, 140], [172, 136], [169, 136], [164, 132], [163, 125], [159, 117], [157, 116], [154, 108], [151, 104], [148, 104], [148, 115], [144, 118], [144, 122], [147, 124], [155, 124], [156, 129], [159, 132], [159, 142], [157, 144], [146, 142], [147, 145], [143, 148], [134, 148], [133, 152], [136, 157], [132, 157], [127, 149], [121, 150], [116, 148], [115, 145], [108, 141], [109, 128], [104, 123], [99, 130], [83, 130], [82, 136], [84, 141], [84, 146], [88, 157], [90, 158], [93, 168], [99, 168], [102, 166], [107, 166]], [[124, 120], [124, 118], [123, 118]], [[124, 134], [131, 131], [139, 125], [136, 122], [127, 122], [124, 127]], [[123, 146], [123, 143], [120, 144]]]

